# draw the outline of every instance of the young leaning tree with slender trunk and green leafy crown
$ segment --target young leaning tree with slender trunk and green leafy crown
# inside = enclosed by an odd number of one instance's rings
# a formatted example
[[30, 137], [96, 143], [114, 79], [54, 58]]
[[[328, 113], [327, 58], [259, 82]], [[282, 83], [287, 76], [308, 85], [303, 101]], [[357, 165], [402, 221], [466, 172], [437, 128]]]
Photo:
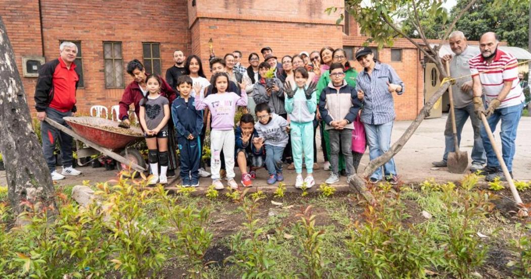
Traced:
[[[449, 74], [446, 72], [446, 69], [441, 62], [439, 49], [446, 42], [459, 19], [476, 1], [477, 0], [470, 0], [460, 11], [453, 13], [453, 18], [451, 18], [448, 11], [444, 9], [442, 1], [440, 0], [347, 0], [345, 1], [344, 9], [346, 12], [354, 16], [354, 19], [356, 19], [356, 22], [361, 28], [361, 32], [369, 37], [370, 41], [377, 44], [379, 48], [382, 48], [384, 45], [392, 46], [393, 39], [396, 37], [406, 38], [421, 51], [427, 62], [435, 64], [442, 77], [447, 78], [449, 77]], [[520, 2], [523, 0], [494, 0], [493, 5], [508, 5], [507, 1]], [[341, 8], [338, 7], [330, 7], [326, 11], [332, 13], [340, 9]], [[340, 16], [338, 23], [342, 18], [343, 15]], [[423, 22], [439, 22], [441, 20], [448, 20], [450, 23], [446, 24], [446, 30], [436, 33], [442, 35], [438, 38], [439, 44], [432, 46], [425, 35]], [[410, 30], [408, 30], [409, 26], [412, 26], [415, 29], [418, 37], [421, 38], [420, 40], [415, 40], [407, 35], [407, 33], [410, 33]], [[361, 192], [365, 199], [373, 201], [370, 193], [366, 191], [362, 177], [369, 177], [376, 168], [379, 168], [388, 162], [402, 149], [402, 147], [404, 147], [421, 122], [429, 115], [433, 105], [444, 94], [449, 86], [450, 82], [444, 82], [440, 88], [435, 91], [433, 96], [425, 103], [415, 120], [409, 125], [400, 139], [393, 143], [386, 153], [372, 160], [365, 167], [361, 177], [357, 175], [350, 177], [350, 184]]]

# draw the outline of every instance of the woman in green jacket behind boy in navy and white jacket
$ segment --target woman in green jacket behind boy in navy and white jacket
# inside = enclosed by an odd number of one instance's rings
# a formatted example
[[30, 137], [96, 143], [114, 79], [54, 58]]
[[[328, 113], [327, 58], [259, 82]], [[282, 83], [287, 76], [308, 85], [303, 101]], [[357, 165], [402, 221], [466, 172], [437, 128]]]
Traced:
[[[358, 72], [350, 66], [350, 63], [348, 63], [347, 60], [347, 53], [342, 48], [337, 48], [332, 53], [332, 62], [333, 63], [341, 63], [345, 67], [345, 80], [347, 81], [347, 84], [352, 87], [356, 87], [356, 77], [358, 75]], [[321, 78], [319, 78], [319, 82], [317, 83], [317, 99], [321, 97], [321, 91], [328, 86], [328, 83], [330, 83], [330, 71], [323, 72], [321, 74]], [[321, 115], [319, 115], [319, 110], [317, 113], [317, 119], [322, 121]], [[324, 126], [324, 122], [321, 122]], [[328, 131], [323, 130], [323, 138], [321, 140], [324, 140], [324, 144], [327, 149], [327, 154], [330, 154], [330, 140], [328, 138]], [[339, 154], [339, 171], [341, 174], [345, 173], [345, 159], [344, 157]]]

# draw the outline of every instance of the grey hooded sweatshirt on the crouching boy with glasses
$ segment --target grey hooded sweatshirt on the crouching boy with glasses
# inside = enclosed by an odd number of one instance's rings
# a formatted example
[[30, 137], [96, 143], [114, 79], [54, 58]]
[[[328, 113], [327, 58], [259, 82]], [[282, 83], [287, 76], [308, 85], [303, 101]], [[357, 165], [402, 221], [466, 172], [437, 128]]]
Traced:
[[288, 121], [282, 116], [271, 113], [271, 118], [267, 124], [256, 122], [254, 130], [258, 132], [258, 136], [265, 140], [266, 145], [286, 147], [288, 144], [288, 133], [286, 126]]

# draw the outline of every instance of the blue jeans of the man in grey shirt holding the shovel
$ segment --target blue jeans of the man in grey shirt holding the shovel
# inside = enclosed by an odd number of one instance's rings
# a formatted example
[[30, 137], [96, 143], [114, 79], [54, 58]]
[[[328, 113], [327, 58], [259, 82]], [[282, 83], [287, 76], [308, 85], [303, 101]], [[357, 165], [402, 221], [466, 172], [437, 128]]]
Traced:
[[[470, 104], [463, 108], [455, 108], [456, 113], [456, 130], [457, 130], [457, 145], [461, 144], [461, 132], [463, 126], [470, 116], [470, 122], [472, 122], [472, 129], [474, 130], [474, 147], [472, 148], [472, 163], [485, 164], [487, 157], [485, 156], [485, 149], [483, 148], [483, 140], [481, 138], [481, 119], [478, 119], [474, 113], [474, 104]], [[452, 118], [449, 115], [446, 121], [446, 128], [444, 129], [444, 155], [442, 160], [446, 162], [448, 160], [448, 153], [455, 152], [456, 148], [453, 146], [453, 131], [452, 131]]]

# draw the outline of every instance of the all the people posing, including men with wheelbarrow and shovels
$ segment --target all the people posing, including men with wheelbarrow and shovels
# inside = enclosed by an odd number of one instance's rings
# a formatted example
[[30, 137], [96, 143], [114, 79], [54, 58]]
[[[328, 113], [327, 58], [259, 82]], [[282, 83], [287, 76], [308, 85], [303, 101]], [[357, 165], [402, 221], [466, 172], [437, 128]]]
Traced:
[[[523, 104], [516, 59], [498, 49], [494, 33], [482, 36], [479, 54], [467, 48], [462, 32], [453, 32], [449, 41], [455, 56], [445, 56], [443, 60], [450, 62], [452, 77], [474, 74], [469, 80], [460, 79], [453, 85], [457, 92], [454, 99], [459, 139], [470, 116], [475, 134], [473, 171], [482, 171], [487, 179], [502, 176], [500, 163], [477, 116], [489, 117], [491, 129], [502, 121], [503, 159], [511, 171]], [[59, 49], [60, 57], [40, 69], [35, 94], [39, 120], [48, 116], [66, 126], [62, 118], [75, 112], [79, 80], [73, 64], [76, 51], [75, 44], [64, 42]], [[370, 48], [360, 47], [355, 53], [355, 60], [363, 68], [361, 72], [350, 65], [341, 48], [324, 47], [320, 51], [285, 55], [280, 61], [270, 47], [262, 48], [260, 53], [263, 62], [257, 53], [251, 53], [247, 67], [242, 65], [242, 52], [238, 50], [222, 58], [212, 53], [210, 79], [204, 74], [200, 57], [186, 57], [181, 50], [174, 52], [175, 65], [166, 71], [166, 79], [146, 73], [138, 60], [127, 64], [127, 73], [133, 81], [119, 102], [119, 119], [123, 126], [130, 125], [129, 109], [134, 105], [149, 149], [153, 174], [150, 184], [167, 183], [180, 165], [184, 187], [196, 187], [200, 177], [211, 176], [216, 189], [224, 189], [222, 177], [226, 177], [230, 188], [238, 188], [235, 162], [244, 187], [252, 187], [256, 170], [262, 167], [269, 174], [267, 183], [275, 184], [284, 180], [282, 165], [287, 163], [288, 169], [297, 174], [295, 187], [311, 188], [315, 185], [313, 170], [318, 167], [315, 142], [318, 128], [323, 168], [331, 171], [324, 182], [329, 184], [338, 182], [341, 175], [357, 171], [366, 146], [371, 160], [388, 151], [396, 117], [393, 98], [404, 93], [404, 82], [390, 65], [376, 60]], [[241, 117], [235, 119], [236, 115]], [[207, 125], [211, 174], [201, 162]], [[79, 175], [72, 167], [72, 139], [45, 122], [41, 134], [52, 179]], [[433, 163], [436, 166], [446, 165], [453, 148], [449, 124], [445, 136], [446, 150], [443, 160]], [[53, 156], [57, 140], [61, 141], [64, 163], [61, 174], [55, 170]], [[369, 180], [396, 184], [394, 160], [378, 168]]]

